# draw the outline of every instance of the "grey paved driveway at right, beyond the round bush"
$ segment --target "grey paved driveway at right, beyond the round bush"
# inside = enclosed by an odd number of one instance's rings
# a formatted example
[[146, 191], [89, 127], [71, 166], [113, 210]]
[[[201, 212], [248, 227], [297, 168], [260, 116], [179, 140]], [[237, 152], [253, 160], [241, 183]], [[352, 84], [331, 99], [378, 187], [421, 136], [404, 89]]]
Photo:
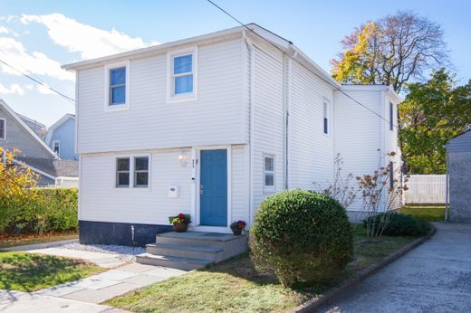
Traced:
[[437, 233], [321, 312], [471, 312], [471, 223]]

